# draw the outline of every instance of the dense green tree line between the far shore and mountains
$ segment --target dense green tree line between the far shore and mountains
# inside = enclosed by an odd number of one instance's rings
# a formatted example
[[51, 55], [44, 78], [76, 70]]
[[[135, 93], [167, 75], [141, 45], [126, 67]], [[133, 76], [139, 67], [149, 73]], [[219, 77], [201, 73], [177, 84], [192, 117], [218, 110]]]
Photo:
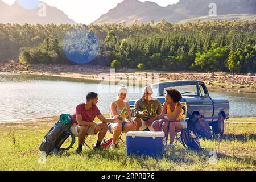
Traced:
[[63, 53], [67, 31], [87, 28], [98, 38], [90, 64], [163, 71], [255, 73], [256, 20], [170, 24], [0, 24], [0, 61], [74, 64]]

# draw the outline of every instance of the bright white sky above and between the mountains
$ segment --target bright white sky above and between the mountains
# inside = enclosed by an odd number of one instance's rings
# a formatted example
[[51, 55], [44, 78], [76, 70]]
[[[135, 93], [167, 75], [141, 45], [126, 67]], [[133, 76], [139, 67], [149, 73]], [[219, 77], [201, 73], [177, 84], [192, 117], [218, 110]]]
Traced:
[[[12, 5], [15, 0], [2, 0]], [[57, 7], [62, 10], [69, 18], [77, 23], [90, 24], [100, 18], [102, 14], [108, 13], [110, 9], [117, 6], [123, 0], [42, 0], [47, 5]], [[139, 0], [144, 2], [144, 0]], [[160, 6], [175, 4], [179, 0], [148, 0], [158, 3]]]

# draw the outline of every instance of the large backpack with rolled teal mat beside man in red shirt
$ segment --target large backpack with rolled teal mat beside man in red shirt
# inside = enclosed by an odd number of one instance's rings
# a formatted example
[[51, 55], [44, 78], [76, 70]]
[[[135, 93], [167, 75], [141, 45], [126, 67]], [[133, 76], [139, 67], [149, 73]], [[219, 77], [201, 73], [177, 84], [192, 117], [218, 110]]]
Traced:
[[[66, 120], [64, 120], [64, 118]], [[68, 119], [68, 120], [67, 120]], [[60, 120], [52, 126], [48, 134], [44, 137], [39, 150], [46, 153], [46, 156], [52, 154], [60, 154], [63, 151], [68, 151], [72, 148], [76, 139], [71, 131], [69, 131], [72, 123], [72, 116], [69, 114], [61, 115]], [[65, 140], [71, 136], [71, 144], [68, 148], [60, 148]]]

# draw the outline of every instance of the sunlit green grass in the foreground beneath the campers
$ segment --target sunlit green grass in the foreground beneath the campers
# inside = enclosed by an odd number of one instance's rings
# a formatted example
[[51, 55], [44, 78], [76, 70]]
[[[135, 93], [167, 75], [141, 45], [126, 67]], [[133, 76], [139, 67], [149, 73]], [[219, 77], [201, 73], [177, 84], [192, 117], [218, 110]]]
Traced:
[[[236, 121], [231, 118], [230, 121]], [[256, 119], [243, 119], [254, 121]], [[201, 152], [185, 150], [181, 144], [164, 154], [163, 158], [127, 156], [124, 144], [114, 151], [93, 151], [84, 149], [81, 155], [75, 149], [61, 156], [49, 156], [46, 164], [39, 164], [39, 145], [51, 128], [55, 118], [49, 122], [7, 124], [0, 126], [0, 170], [255, 170], [256, 165], [256, 123], [226, 124], [225, 135], [213, 140], [200, 140]], [[11, 136], [9, 136], [10, 129]], [[108, 133], [106, 137], [110, 137]], [[97, 136], [88, 137], [91, 146]], [[125, 136], [123, 136], [125, 139]], [[68, 143], [65, 143], [67, 145]], [[209, 164], [210, 151], [217, 152], [217, 164]]]

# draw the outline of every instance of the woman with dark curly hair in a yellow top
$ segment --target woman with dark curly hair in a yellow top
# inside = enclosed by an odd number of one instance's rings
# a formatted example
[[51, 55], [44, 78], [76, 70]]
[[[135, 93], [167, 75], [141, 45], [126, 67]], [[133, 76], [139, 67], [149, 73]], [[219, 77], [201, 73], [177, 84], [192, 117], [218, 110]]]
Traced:
[[[166, 89], [166, 102], [164, 102], [162, 113], [158, 115], [157, 122], [154, 122], [155, 131], [163, 131], [166, 134], [166, 144], [168, 135], [170, 134], [170, 144], [166, 145], [166, 150], [172, 148], [175, 137], [175, 130], [181, 131], [188, 127], [187, 122], [182, 115], [182, 105], [180, 100], [182, 99], [181, 93], [172, 88]], [[167, 119], [163, 119], [167, 113]], [[163, 126], [162, 126], [163, 125]]]

